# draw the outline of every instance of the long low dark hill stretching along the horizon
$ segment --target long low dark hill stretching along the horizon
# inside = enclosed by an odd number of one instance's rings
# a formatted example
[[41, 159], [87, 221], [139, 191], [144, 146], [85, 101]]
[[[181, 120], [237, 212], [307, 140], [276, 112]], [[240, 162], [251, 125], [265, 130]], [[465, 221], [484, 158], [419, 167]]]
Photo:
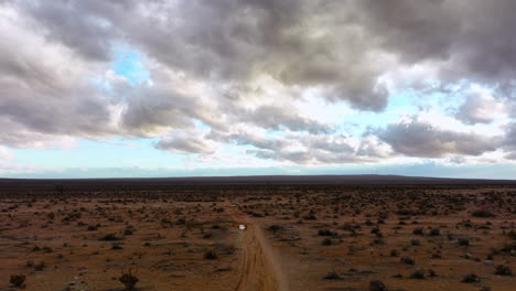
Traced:
[[152, 179], [0, 179], [0, 191], [146, 188], [174, 185], [516, 185], [515, 180], [444, 179], [401, 175], [256, 175]]

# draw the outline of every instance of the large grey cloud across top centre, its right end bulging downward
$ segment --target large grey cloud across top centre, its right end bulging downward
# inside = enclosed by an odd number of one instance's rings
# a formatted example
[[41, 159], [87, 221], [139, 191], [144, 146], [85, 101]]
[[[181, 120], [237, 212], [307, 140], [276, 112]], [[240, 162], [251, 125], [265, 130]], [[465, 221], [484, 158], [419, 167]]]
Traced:
[[247, 83], [269, 75], [287, 86], [324, 87], [325, 98], [357, 108], [384, 108], [387, 88], [376, 86], [383, 64], [368, 50], [369, 37], [341, 24], [351, 18], [346, 10], [326, 14], [337, 7], [324, 2], [93, 0], [14, 7], [49, 42], [86, 60], [107, 61], [110, 45], [126, 42], [193, 78]]

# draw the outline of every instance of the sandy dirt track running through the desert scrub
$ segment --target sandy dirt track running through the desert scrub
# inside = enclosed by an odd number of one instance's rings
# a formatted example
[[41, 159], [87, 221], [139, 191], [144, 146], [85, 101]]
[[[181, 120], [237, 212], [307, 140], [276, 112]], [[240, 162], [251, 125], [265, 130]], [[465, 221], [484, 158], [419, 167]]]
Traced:
[[281, 268], [259, 226], [236, 207], [228, 208], [235, 222], [246, 225], [240, 233], [244, 258], [235, 291], [287, 291]]

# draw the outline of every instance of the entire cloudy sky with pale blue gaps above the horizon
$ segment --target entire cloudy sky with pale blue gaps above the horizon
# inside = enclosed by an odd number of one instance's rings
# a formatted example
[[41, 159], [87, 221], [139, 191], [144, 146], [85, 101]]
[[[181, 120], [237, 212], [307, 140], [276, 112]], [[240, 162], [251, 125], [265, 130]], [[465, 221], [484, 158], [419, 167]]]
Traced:
[[0, 176], [516, 179], [513, 11], [0, 0]]

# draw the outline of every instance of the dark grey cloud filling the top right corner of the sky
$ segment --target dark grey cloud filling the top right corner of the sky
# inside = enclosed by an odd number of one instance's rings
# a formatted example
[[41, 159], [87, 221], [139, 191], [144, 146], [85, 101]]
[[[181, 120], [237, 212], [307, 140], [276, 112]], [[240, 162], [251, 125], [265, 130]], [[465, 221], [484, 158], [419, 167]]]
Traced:
[[[432, 0], [356, 1], [359, 22], [401, 64], [431, 63], [442, 83], [467, 79], [514, 88], [510, 15], [516, 2]], [[501, 86], [501, 87], [503, 87]]]

